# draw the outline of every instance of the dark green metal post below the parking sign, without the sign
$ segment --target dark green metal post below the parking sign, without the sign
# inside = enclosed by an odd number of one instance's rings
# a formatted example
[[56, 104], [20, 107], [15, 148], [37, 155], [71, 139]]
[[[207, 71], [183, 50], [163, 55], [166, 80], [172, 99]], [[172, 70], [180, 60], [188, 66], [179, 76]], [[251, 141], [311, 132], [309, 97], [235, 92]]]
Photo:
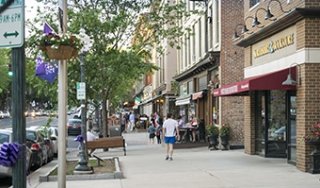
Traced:
[[25, 107], [25, 54], [24, 46], [12, 49], [12, 132], [13, 141], [21, 145], [17, 163], [12, 170], [12, 185], [26, 187], [26, 118]]

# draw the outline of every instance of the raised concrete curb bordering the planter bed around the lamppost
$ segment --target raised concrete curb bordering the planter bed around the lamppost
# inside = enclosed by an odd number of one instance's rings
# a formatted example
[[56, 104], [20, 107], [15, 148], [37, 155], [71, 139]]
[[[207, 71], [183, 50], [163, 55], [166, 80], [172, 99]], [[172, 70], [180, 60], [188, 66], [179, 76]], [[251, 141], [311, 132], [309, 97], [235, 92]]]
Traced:
[[[110, 159], [110, 157], [105, 157], [102, 159]], [[115, 171], [104, 173], [104, 174], [81, 174], [81, 175], [67, 175], [66, 180], [68, 181], [75, 181], [75, 180], [101, 180], [101, 179], [121, 179], [123, 178], [123, 174], [120, 169], [120, 161], [118, 157], [113, 157]], [[58, 181], [57, 176], [49, 176], [50, 173], [55, 170], [58, 165], [55, 165], [52, 169], [50, 169], [47, 173], [42, 174], [39, 176], [39, 182], [52, 182]]]

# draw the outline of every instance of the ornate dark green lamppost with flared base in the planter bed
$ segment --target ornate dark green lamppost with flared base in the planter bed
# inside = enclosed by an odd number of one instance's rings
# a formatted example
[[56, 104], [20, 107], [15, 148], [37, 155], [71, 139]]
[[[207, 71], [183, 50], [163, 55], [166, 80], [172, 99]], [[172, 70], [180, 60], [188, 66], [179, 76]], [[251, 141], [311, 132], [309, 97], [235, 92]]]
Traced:
[[[84, 67], [84, 54], [80, 55], [80, 80], [84, 83], [85, 80], [85, 67]], [[81, 135], [83, 140], [87, 141], [87, 128], [86, 128], [86, 120], [87, 120], [87, 108], [86, 108], [86, 100], [81, 100]], [[81, 150], [79, 151], [79, 161], [78, 165], [74, 168], [74, 173], [77, 174], [91, 174], [92, 170], [88, 167], [88, 153], [86, 144], [83, 142], [81, 144]]]

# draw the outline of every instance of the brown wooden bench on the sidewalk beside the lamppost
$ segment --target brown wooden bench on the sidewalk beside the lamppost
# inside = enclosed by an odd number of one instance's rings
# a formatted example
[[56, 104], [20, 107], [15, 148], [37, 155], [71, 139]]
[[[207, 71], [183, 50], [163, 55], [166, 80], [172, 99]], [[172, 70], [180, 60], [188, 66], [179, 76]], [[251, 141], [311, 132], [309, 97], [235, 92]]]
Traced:
[[123, 147], [124, 155], [126, 155], [125, 140], [122, 136], [104, 137], [87, 142], [87, 149], [104, 149], [117, 147]]

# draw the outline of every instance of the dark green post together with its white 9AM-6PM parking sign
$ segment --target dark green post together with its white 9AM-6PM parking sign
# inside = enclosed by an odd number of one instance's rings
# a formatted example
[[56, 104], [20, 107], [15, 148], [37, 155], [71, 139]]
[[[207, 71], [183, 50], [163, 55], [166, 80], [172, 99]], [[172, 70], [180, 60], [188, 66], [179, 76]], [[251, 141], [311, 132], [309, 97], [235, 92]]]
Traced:
[[2, 0], [0, 7], [0, 48], [12, 48], [12, 141], [19, 144], [12, 185], [26, 188], [24, 0]]

